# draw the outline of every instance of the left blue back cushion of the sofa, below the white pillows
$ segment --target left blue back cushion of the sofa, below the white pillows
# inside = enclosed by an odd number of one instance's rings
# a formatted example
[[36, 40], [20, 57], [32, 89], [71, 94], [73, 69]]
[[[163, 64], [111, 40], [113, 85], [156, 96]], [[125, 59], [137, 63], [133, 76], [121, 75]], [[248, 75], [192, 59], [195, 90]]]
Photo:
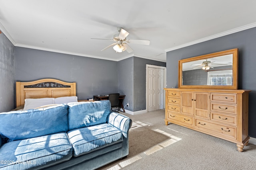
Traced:
[[68, 131], [68, 106], [0, 113], [0, 135], [10, 141]]

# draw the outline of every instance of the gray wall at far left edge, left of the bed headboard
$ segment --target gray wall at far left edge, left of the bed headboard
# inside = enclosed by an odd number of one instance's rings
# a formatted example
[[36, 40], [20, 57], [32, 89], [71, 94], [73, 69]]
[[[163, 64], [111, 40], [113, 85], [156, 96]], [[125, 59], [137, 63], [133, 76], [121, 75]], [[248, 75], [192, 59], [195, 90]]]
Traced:
[[10, 111], [14, 106], [14, 45], [0, 34], [0, 112]]

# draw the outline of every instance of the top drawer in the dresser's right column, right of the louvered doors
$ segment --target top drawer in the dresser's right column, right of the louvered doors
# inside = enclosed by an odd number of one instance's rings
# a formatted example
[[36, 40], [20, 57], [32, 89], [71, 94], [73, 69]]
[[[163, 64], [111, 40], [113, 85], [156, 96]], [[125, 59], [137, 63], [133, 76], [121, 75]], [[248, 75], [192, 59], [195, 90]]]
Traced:
[[211, 102], [222, 102], [236, 104], [236, 94], [226, 94], [226, 93], [211, 93]]

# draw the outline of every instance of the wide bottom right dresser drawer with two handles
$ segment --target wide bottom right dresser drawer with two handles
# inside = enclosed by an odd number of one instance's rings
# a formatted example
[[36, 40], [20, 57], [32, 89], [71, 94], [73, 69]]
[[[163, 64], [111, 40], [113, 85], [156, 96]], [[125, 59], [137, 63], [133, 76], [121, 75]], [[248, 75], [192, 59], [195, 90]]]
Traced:
[[236, 127], [216, 124], [202, 119], [195, 118], [194, 127], [208, 131], [209, 133], [216, 134], [220, 137], [228, 137], [230, 139], [236, 139]]

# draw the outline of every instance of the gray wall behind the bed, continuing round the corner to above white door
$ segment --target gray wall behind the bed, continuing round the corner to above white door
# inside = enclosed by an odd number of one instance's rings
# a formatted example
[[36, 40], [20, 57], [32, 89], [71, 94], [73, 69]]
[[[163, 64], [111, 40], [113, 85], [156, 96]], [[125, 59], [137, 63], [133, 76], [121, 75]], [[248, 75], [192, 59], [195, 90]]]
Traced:
[[166, 63], [130, 57], [108, 61], [15, 47], [15, 81], [56, 78], [76, 82], [78, 100], [97, 94], [126, 95], [123, 104], [130, 111], [146, 109], [146, 64], [166, 66]]

